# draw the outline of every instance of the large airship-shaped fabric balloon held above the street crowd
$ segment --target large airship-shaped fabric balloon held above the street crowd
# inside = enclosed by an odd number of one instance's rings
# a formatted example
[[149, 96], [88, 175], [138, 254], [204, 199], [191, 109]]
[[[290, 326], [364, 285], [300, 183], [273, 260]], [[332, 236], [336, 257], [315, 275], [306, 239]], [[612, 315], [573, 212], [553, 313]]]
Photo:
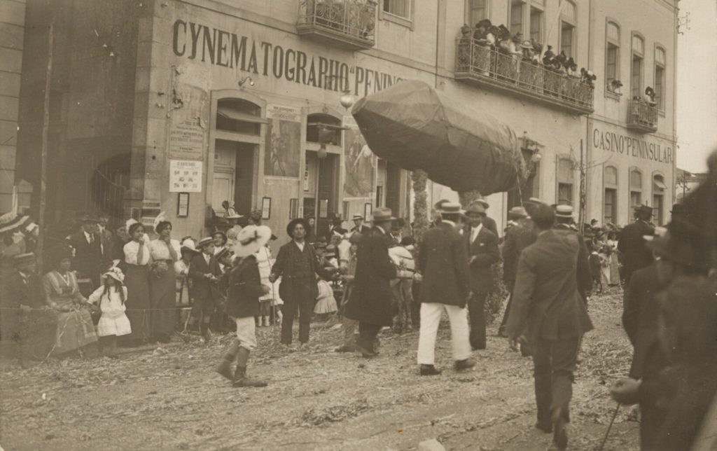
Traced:
[[424, 82], [399, 82], [362, 98], [351, 113], [377, 156], [409, 171], [422, 169], [456, 191], [488, 195], [523, 181], [516, 133]]

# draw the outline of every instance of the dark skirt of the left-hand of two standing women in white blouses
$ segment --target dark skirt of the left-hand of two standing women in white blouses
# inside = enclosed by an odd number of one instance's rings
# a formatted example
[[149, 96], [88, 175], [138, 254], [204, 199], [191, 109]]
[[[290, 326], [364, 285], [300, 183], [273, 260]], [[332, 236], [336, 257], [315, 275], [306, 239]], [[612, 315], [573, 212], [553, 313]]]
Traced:
[[149, 267], [130, 265], [125, 267], [125, 286], [127, 287], [127, 317], [130, 319], [132, 333], [124, 338], [128, 341], [147, 341], [150, 336], [150, 312], [138, 310], [151, 308], [149, 301]]

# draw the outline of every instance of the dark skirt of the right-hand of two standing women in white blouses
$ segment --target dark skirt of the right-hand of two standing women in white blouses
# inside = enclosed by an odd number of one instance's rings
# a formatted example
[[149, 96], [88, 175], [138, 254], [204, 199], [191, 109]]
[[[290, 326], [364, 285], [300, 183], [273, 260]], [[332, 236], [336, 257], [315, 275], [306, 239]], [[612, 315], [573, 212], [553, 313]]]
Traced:
[[176, 274], [174, 265], [167, 264], [161, 274], [150, 275], [149, 293], [152, 305], [152, 335], [166, 338], [174, 333], [176, 326]]

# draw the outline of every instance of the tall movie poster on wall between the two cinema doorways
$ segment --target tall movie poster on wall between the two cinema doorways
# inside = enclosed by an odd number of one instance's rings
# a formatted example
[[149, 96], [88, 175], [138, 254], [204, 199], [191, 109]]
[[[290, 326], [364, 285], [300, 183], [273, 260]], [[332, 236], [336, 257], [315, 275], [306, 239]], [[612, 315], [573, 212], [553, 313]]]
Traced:
[[284, 105], [267, 108], [267, 146], [264, 174], [298, 177], [301, 155], [301, 110]]

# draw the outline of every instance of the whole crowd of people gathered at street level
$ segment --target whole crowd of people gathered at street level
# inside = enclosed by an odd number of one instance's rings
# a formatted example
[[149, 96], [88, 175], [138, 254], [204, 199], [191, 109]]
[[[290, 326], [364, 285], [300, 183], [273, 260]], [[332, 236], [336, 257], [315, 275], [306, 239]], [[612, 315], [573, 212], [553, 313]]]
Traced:
[[105, 218], [87, 215], [47, 252], [42, 277], [27, 252], [37, 226], [5, 217], [0, 230], [15, 230], [15, 238], [4, 242], [12, 265], [4, 258], [1, 333], [21, 363], [29, 338], [42, 331], [52, 331], [51, 353], [99, 341], [115, 357], [118, 339], [169, 341], [181, 328], [177, 306], [191, 306], [184, 331], [204, 341], [212, 331], [236, 335], [217, 372], [234, 386], [265, 386], [247, 375], [260, 346], [257, 327], [280, 324], [280, 342], [293, 351], [309, 343], [313, 319], [341, 318], [336, 351], [366, 359], [380, 356], [383, 328], [418, 328], [419, 374], [436, 376], [444, 312], [455, 371], [472, 369], [473, 353], [486, 348], [485, 301], [502, 260], [509, 297], [498, 334], [532, 357], [536, 427], [565, 449], [574, 370], [582, 337], [594, 327], [589, 299], [624, 285], [622, 320], [635, 355], [612, 396], [640, 404], [642, 449], [688, 449], [717, 391], [716, 166], [714, 153], [708, 181], [673, 206], [668, 227], [651, 224], [645, 205], [625, 227], [597, 220], [579, 227], [571, 206], [529, 199], [511, 209], [499, 237], [484, 199], [465, 209], [442, 200], [418, 242], [386, 208], [374, 209], [370, 226], [354, 216], [350, 230], [341, 218], [320, 232], [312, 218], [293, 219], [275, 259], [268, 244], [277, 237], [259, 212], [243, 227], [229, 222], [199, 240], [174, 239], [162, 216], [150, 230], [130, 220], [113, 233]]

